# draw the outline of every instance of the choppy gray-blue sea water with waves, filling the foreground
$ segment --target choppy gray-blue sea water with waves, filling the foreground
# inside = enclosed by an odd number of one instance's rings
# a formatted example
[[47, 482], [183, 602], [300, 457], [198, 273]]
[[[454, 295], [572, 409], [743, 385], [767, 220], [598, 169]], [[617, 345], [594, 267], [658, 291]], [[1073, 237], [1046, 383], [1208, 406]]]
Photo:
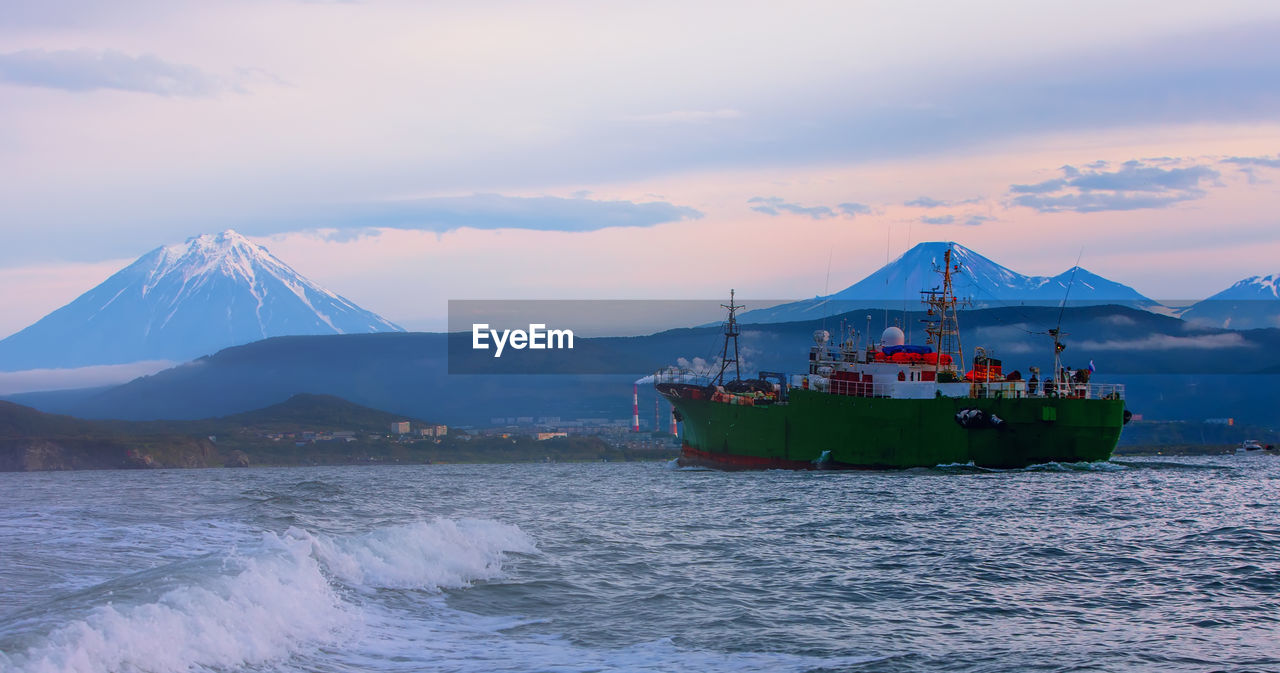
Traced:
[[1280, 459], [0, 475], [4, 672], [1280, 670]]

